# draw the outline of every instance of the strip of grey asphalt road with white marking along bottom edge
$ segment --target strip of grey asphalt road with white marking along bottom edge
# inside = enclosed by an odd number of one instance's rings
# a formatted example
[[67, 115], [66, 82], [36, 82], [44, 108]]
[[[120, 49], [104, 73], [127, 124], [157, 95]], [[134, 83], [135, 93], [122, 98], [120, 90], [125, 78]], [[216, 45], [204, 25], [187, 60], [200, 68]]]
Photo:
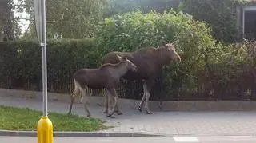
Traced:
[[[35, 143], [37, 137], [0, 137], [0, 142]], [[210, 137], [54, 137], [54, 143], [253, 143], [256, 136], [210, 136]]]

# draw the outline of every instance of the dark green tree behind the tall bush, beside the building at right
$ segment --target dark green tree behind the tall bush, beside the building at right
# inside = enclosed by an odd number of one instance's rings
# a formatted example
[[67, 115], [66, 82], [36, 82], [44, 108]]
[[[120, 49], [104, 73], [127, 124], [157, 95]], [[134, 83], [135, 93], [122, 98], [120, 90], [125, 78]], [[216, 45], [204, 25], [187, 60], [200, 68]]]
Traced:
[[180, 10], [207, 22], [218, 41], [235, 42], [238, 37], [237, 8], [245, 3], [246, 0], [182, 0]]

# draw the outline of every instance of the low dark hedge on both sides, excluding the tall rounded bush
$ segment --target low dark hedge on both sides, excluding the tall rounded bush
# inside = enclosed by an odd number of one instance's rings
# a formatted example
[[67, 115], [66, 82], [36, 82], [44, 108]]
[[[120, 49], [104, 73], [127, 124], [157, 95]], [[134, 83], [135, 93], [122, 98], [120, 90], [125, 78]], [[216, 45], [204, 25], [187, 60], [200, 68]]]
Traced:
[[[94, 45], [94, 40], [88, 39], [49, 42], [47, 54], [49, 91], [70, 93], [73, 89], [72, 75], [75, 70], [100, 65], [101, 56], [99, 55], [101, 54]], [[253, 96], [256, 93], [254, 89], [256, 43], [245, 42], [229, 46], [218, 44], [216, 46], [222, 49], [222, 53], [219, 50], [218, 53], [202, 50], [203, 58], [197, 57], [202, 62], [199, 70], [194, 70], [199, 67], [196, 63], [186, 61], [186, 57], [189, 56], [185, 55], [190, 54], [190, 50], [183, 54], [182, 59], [186, 63], [182, 62], [180, 66], [167, 68], [163, 76], [163, 88], [165, 89], [163, 94], [166, 95], [163, 99], [236, 100], [245, 99], [246, 96], [254, 99], [256, 97]], [[0, 50], [1, 87], [41, 90], [41, 50], [35, 42], [0, 42]], [[154, 89], [158, 89], [158, 86], [158, 84], [155, 85]], [[126, 83], [124, 87], [121, 92], [119, 90], [120, 97], [141, 99], [139, 95], [142, 92], [142, 85]], [[151, 98], [159, 99], [159, 91], [156, 92]]]

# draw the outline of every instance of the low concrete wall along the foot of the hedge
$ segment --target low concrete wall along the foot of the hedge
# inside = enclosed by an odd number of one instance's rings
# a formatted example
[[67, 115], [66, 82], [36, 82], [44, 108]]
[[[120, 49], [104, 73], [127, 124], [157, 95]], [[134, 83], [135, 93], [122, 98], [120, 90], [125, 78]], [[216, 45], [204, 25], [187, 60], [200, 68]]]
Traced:
[[[42, 92], [27, 91], [21, 89], [1, 89], [0, 97], [23, 98], [33, 101], [42, 101]], [[104, 103], [104, 97], [90, 97], [90, 105]], [[18, 100], [18, 99], [15, 99]], [[70, 102], [70, 95], [65, 93], [48, 92], [48, 101]], [[78, 101], [74, 101], [78, 103]], [[121, 109], [135, 109], [140, 100], [119, 99]], [[172, 112], [172, 111], [256, 111], [256, 101], [150, 101], [150, 109], [153, 112]]]

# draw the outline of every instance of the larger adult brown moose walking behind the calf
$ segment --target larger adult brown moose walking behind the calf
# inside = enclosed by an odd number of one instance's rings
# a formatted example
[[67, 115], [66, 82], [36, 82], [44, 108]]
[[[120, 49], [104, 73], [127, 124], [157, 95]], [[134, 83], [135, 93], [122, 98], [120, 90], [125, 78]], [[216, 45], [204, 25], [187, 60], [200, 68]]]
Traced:
[[[181, 58], [175, 51], [175, 42], [166, 42], [158, 48], [152, 46], [136, 50], [134, 52], [117, 52], [113, 51], [105, 55], [103, 63], [118, 63], [117, 54], [128, 58], [137, 66], [137, 71], [128, 71], [124, 76], [126, 80], [143, 80], [143, 97], [138, 105], [138, 110], [142, 112], [142, 105], [145, 103], [147, 114], [152, 112], [149, 109], [150, 90], [154, 84], [154, 79], [161, 71], [162, 67], [169, 64], [171, 61], [181, 62]], [[108, 113], [108, 97], [106, 96], [106, 111]], [[118, 108], [117, 108], [118, 109]], [[117, 110], [118, 111], [118, 110]], [[120, 111], [118, 111], [120, 112]]]

